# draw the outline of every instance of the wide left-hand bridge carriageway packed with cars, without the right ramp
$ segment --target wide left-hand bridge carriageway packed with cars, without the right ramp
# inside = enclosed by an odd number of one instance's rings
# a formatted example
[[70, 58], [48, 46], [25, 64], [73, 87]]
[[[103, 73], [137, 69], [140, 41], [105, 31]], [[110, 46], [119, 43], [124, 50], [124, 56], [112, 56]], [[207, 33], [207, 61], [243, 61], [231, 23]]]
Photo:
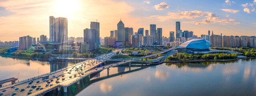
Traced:
[[[83, 71], [90, 70], [90, 69], [98, 66], [102, 62], [105, 62], [107, 59], [111, 58], [111, 56], [115, 55], [115, 53], [117, 51], [121, 51], [121, 49], [113, 50], [113, 52], [110, 52], [109, 54], [101, 55], [101, 56], [95, 57], [94, 59], [80, 62], [78, 64], [75, 64], [74, 66], [70, 66], [61, 71], [52, 72], [52, 73], [48, 74], [49, 75], [48, 80], [52, 79], [53, 81], [50, 82], [50, 84], [53, 84], [52, 86], [55, 86], [57, 84], [55, 82], [57, 80], [57, 78], [56, 78], [57, 76], [58, 76], [58, 78], [60, 78], [59, 79], [60, 83], [76, 79], [78, 76], [76, 78], [74, 78], [74, 74], [78, 75], [78, 72], [81, 71], [81, 70], [76, 70], [76, 68], [79, 68], [83, 64], [83, 67], [82, 67]], [[86, 63], [86, 65], [84, 63]], [[68, 72], [70, 72], [70, 70], [71, 70], [71, 73], [68, 74]], [[64, 77], [62, 77], [62, 75], [64, 75]], [[53, 77], [53, 76], [55, 76], [55, 77]], [[72, 78], [69, 78], [69, 76], [72, 76]], [[62, 78], [65, 78], [65, 80], [62, 80]], [[36, 88], [38, 88], [38, 87], [31, 88], [32, 85], [35, 85], [35, 86], [41, 85], [40, 88], [44, 88], [44, 89], [47, 87], [51, 87], [50, 84], [49, 84], [49, 86], [46, 86], [47, 82], [44, 82], [42, 80], [42, 78], [34, 79], [32, 84], [28, 84], [30, 81], [31, 80], [28, 80], [28, 82], [25, 82], [25, 83], [16, 84], [16, 85], [14, 85], [14, 88], [10, 88], [11, 86], [2, 87], [2, 88], [0, 88], [0, 92], [2, 92], [3, 89], [6, 89], [6, 91], [3, 92], [4, 94], [2, 96], [10, 95], [13, 92], [16, 92], [17, 96], [26, 96], [26, 95], [28, 95], [28, 92], [32, 92], [32, 94], [29, 94], [29, 95], [33, 95], [35, 92], [40, 91], [40, 90], [36, 90]], [[37, 81], [39, 81], [39, 83], [36, 83]], [[28, 85], [30, 85], [30, 87], [27, 87]], [[17, 87], [18, 87], [18, 90], [15, 90], [15, 88], [17, 88]], [[24, 89], [24, 91], [21, 91], [22, 88]], [[33, 89], [33, 90], [29, 91], [29, 89]]]

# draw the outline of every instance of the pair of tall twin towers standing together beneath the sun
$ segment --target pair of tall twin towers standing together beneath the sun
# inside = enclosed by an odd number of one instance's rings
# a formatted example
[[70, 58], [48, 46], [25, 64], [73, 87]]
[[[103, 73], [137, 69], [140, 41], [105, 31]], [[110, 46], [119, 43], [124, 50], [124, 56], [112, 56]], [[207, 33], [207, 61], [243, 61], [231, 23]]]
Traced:
[[[67, 18], [54, 18], [50, 16], [50, 42], [68, 40], [68, 20]], [[47, 40], [44, 40], [47, 41]]]

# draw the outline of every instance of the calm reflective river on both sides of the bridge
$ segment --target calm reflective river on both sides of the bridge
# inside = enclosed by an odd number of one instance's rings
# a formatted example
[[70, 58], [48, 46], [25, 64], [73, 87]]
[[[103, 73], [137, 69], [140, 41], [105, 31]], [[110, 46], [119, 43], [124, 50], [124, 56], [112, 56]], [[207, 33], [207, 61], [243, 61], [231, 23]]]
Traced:
[[[5, 57], [4, 57], [5, 58]], [[17, 76], [17, 70], [36, 76], [38, 67], [50, 72], [51, 63], [18, 60], [2, 64], [1, 74]], [[10, 59], [10, 58], [7, 58]], [[12, 58], [13, 59], [13, 58]], [[11, 59], [11, 60], [12, 60]], [[10, 60], [8, 60], [10, 62]], [[30, 64], [26, 64], [26, 62]], [[17, 63], [17, 64], [14, 64]], [[63, 63], [63, 62], [62, 62]], [[32, 65], [36, 64], [36, 65]], [[16, 66], [15, 66], [16, 65]], [[65, 64], [60, 64], [64, 66]], [[13, 68], [13, 69], [12, 69]], [[42, 69], [41, 69], [42, 68]], [[4, 71], [3, 71], [3, 70]], [[12, 69], [12, 70], [8, 70]], [[40, 73], [41, 73], [40, 72]], [[22, 71], [20, 70], [20, 75]], [[23, 75], [24, 76], [24, 75]], [[26, 77], [26, 76], [24, 76]], [[255, 96], [256, 59], [226, 62], [163, 63], [156, 66], [119, 66], [103, 70], [67, 88], [46, 96]]]

